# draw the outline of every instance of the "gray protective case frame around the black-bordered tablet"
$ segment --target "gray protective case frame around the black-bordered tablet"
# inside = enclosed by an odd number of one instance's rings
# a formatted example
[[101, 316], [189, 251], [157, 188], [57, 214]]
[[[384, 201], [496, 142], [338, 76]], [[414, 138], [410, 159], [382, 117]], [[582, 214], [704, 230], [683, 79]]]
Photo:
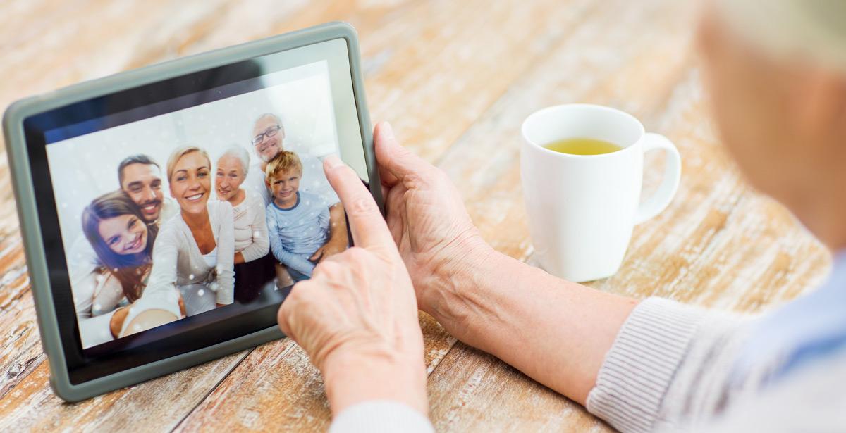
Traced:
[[[360, 52], [358, 37], [354, 28], [346, 23], [328, 23], [305, 30], [273, 36], [261, 41], [248, 42], [235, 47], [204, 52], [194, 56], [179, 58], [166, 63], [159, 63], [141, 69], [111, 75], [40, 96], [17, 101], [8, 107], [3, 116], [3, 133], [6, 139], [8, 162], [14, 185], [14, 196], [18, 204], [18, 217], [21, 223], [25, 244], [25, 256], [32, 294], [36, 301], [38, 326], [41, 329], [41, 344], [50, 360], [50, 384], [59, 397], [69, 402], [93, 397], [103, 392], [147, 381], [173, 371], [183, 370], [192, 365], [233, 354], [245, 348], [284, 337], [277, 326], [259, 332], [234, 338], [207, 348], [201, 348], [186, 354], [179, 354], [168, 359], [161, 359], [151, 364], [120, 371], [92, 381], [74, 385], [69, 380], [69, 372], [64, 359], [62, 341], [59, 338], [58, 322], [53, 305], [50, 280], [47, 277], [47, 260], [41, 248], [41, 227], [38, 222], [36, 200], [31, 182], [30, 162], [26, 152], [23, 123], [25, 118], [39, 112], [46, 112], [75, 101], [84, 101], [93, 96], [101, 96], [118, 90], [146, 85], [162, 79], [190, 74], [205, 69], [215, 68], [250, 58], [264, 56], [273, 52], [282, 52], [291, 48], [304, 47], [323, 41], [343, 38], [347, 42], [349, 68], [355, 105], [359, 115], [361, 137], [365, 142], [365, 162], [371, 179], [371, 192], [376, 195], [376, 202], [382, 206], [379, 189], [376, 159], [373, 153], [370, 115], [365, 104], [364, 82], [361, 78]], [[374, 181], [375, 182], [372, 182]], [[374, 185], [375, 184], [375, 185]]]

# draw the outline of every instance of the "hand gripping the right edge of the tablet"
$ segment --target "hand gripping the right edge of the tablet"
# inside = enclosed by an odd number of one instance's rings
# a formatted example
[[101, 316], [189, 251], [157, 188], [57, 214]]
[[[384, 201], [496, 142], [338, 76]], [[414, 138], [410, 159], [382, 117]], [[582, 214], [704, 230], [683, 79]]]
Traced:
[[451, 315], [454, 309], [445, 304], [464, 304], [461, 286], [473, 283], [475, 269], [494, 251], [446, 173], [398, 145], [387, 122], [376, 125], [373, 140], [387, 226], [415, 284], [420, 310], [442, 321], [437, 313]]

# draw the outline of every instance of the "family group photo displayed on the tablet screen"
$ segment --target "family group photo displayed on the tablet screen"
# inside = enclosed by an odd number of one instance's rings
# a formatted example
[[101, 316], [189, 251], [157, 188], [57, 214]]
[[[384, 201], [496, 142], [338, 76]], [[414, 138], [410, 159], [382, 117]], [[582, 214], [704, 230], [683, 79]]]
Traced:
[[[284, 91], [294, 87], [299, 94]], [[83, 348], [250, 304], [310, 278], [317, 263], [348, 247], [343, 207], [320, 161], [338, 151], [327, 87], [315, 74], [54, 151], [51, 166], [68, 163], [61, 152], [96, 166], [63, 170], [81, 182], [53, 178]], [[287, 115], [238, 110], [251, 101], [286, 105], [274, 94], [299, 104]], [[191, 130], [203, 132], [191, 140]]]

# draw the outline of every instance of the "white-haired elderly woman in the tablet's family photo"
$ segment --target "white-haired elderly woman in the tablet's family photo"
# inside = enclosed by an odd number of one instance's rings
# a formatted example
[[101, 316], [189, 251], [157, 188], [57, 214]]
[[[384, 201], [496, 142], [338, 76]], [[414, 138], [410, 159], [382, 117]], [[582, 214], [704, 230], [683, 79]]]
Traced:
[[228, 148], [217, 158], [215, 192], [218, 200], [232, 205], [235, 233], [235, 298], [249, 302], [273, 278], [273, 260], [268, 257], [264, 200], [253, 189], [241, 188], [250, 170], [250, 154], [239, 146]]

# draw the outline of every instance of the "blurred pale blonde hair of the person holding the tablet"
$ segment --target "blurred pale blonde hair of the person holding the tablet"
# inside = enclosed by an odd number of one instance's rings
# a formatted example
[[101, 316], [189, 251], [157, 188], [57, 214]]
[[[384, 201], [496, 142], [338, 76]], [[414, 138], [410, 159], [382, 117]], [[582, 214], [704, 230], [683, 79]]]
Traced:
[[777, 59], [846, 74], [846, 0], [713, 0], [723, 21]]

